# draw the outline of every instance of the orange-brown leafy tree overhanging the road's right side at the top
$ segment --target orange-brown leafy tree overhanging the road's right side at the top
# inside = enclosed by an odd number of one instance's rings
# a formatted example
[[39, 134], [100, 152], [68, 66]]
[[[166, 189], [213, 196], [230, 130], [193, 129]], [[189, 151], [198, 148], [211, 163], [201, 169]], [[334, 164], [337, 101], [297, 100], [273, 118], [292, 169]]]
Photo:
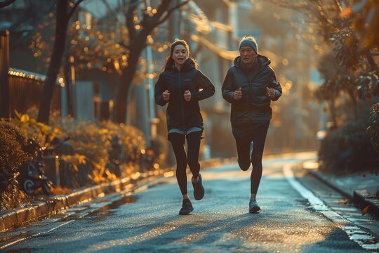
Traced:
[[366, 0], [273, 1], [305, 13], [305, 22], [313, 24], [332, 48], [338, 65], [345, 71], [326, 79], [321, 89], [330, 89], [328, 85], [344, 91], [352, 101], [357, 120], [359, 98], [370, 98], [378, 93], [378, 66], [373, 60], [373, 54], [378, 51], [378, 36], [373, 30], [378, 26], [375, 22], [379, 18], [378, 3]]

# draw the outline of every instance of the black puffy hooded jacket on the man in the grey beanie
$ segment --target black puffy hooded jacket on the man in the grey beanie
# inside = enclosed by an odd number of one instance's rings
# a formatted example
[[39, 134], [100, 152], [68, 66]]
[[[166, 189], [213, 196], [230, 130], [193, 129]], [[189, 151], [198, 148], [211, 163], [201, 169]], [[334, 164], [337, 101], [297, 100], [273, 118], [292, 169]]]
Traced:
[[[230, 67], [222, 84], [222, 97], [232, 103], [230, 122], [232, 126], [270, 124], [271, 100], [281, 96], [281, 86], [269, 66], [270, 59], [258, 55], [251, 69], [246, 69], [238, 56]], [[274, 98], [267, 95], [266, 88], [275, 89]], [[241, 88], [242, 97], [234, 100], [234, 91]]]

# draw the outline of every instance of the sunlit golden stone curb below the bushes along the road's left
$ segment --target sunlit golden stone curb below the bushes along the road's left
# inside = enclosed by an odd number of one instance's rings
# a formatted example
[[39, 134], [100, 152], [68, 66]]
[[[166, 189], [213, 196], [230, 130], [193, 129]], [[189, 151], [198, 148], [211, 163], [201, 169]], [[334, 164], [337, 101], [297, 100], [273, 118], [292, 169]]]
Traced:
[[[218, 158], [200, 162], [201, 167], [216, 166], [221, 163], [222, 160]], [[97, 186], [79, 188], [73, 193], [67, 195], [55, 195], [54, 197], [48, 197], [44, 200], [35, 200], [30, 206], [18, 207], [10, 211], [2, 212], [0, 215], [0, 232], [56, 214], [62, 209], [74, 207], [81, 202], [94, 200], [101, 195], [119, 192], [126, 189], [131, 184], [136, 184], [149, 177], [157, 176], [161, 178], [161, 176], [164, 176], [168, 171], [173, 171], [173, 168], [171, 167], [143, 173], [137, 172], [132, 176], [126, 176], [123, 179], [101, 183]]]

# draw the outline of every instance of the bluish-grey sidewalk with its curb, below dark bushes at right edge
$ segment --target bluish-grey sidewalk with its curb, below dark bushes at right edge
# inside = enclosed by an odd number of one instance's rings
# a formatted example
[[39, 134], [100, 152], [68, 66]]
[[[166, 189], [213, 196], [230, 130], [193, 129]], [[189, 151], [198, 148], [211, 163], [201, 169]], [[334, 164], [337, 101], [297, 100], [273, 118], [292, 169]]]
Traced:
[[360, 172], [345, 176], [324, 174], [317, 169], [309, 171], [331, 188], [337, 190], [348, 199], [352, 200], [359, 208], [366, 209], [369, 213], [379, 217], [379, 200], [376, 193], [379, 190], [379, 175], [371, 172]]

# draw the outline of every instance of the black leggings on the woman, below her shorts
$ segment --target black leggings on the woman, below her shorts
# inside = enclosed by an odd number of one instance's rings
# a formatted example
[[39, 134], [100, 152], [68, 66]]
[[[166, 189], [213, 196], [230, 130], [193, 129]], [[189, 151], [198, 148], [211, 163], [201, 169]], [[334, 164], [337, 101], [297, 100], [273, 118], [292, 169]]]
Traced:
[[[187, 154], [185, 153], [184, 143], [187, 138]], [[187, 164], [192, 172], [192, 176], [199, 176], [199, 150], [200, 150], [201, 131], [194, 131], [187, 134], [170, 133], [168, 141], [171, 141], [176, 158], [176, 179], [178, 180], [182, 195], [187, 194]]]

